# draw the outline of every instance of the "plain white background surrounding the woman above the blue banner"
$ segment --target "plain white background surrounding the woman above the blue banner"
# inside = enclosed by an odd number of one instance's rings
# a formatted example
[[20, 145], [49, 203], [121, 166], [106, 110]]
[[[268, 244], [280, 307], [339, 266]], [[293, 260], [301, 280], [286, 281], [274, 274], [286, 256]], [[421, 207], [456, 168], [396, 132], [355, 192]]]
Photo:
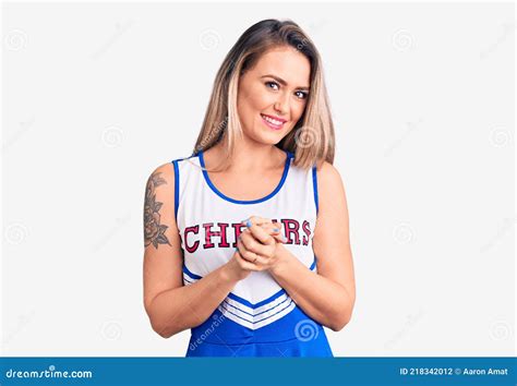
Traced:
[[263, 19], [323, 61], [357, 303], [336, 357], [513, 355], [512, 3], [4, 3], [4, 355], [178, 355], [143, 307], [143, 203]]

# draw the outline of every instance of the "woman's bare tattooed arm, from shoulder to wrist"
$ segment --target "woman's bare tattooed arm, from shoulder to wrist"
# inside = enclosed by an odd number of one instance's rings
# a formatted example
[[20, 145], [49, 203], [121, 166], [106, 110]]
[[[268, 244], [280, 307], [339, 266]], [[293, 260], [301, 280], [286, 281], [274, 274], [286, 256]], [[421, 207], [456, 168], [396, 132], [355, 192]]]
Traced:
[[171, 164], [148, 178], [144, 204], [144, 306], [153, 329], [168, 338], [205, 322], [244, 273], [236, 260], [183, 287], [181, 239], [175, 218]]

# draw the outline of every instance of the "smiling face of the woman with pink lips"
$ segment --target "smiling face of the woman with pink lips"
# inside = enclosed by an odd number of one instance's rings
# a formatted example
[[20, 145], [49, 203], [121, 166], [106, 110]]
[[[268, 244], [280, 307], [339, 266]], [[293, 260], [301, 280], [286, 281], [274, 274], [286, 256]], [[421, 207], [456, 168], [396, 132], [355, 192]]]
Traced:
[[277, 144], [303, 114], [311, 63], [292, 47], [264, 53], [239, 80], [237, 110], [244, 135]]

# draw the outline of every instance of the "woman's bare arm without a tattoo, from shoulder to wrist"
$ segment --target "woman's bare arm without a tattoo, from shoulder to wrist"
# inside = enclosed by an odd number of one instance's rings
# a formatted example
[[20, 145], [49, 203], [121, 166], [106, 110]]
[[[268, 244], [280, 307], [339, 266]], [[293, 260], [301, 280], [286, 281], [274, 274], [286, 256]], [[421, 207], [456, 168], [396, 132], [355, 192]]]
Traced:
[[317, 182], [320, 210], [313, 238], [317, 274], [281, 244], [281, 257], [270, 273], [308, 315], [337, 331], [350, 321], [356, 302], [348, 208], [341, 179], [330, 164], [318, 170]]

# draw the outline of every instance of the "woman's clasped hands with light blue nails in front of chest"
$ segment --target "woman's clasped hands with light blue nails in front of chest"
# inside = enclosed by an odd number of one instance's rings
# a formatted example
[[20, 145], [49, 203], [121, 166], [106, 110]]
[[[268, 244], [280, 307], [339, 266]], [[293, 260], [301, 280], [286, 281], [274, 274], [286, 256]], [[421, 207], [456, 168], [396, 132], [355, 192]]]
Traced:
[[[247, 229], [237, 241], [239, 257], [244, 263], [251, 263], [248, 268], [251, 270], [268, 270], [280, 261], [280, 250], [285, 243], [280, 227], [277, 227], [269, 219], [252, 216], [243, 222]], [[279, 240], [279, 241], [278, 241]]]

